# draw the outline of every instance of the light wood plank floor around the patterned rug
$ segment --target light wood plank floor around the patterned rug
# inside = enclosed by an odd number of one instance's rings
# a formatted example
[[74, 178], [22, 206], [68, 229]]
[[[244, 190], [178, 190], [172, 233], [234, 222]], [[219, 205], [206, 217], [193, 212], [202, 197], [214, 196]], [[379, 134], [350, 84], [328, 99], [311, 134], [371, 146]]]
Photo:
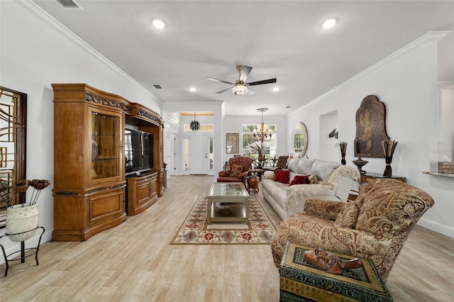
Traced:
[[[45, 242], [0, 269], [0, 301], [279, 301], [270, 245], [170, 245], [213, 177], [171, 177], [164, 196], [86, 242]], [[272, 221], [280, 219], [259, 194]], [[1, 257], [1, 256], [0, 256]], [[387, 282], [394, 301], [452, 301], [454, 239], [416, 226]]]

